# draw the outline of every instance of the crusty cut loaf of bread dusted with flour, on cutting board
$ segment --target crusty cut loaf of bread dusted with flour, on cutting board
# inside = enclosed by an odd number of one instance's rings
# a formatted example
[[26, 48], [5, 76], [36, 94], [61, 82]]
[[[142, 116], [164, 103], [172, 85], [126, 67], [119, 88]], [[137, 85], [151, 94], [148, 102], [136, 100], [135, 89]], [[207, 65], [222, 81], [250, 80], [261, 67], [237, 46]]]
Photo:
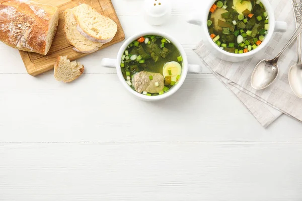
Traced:
[[24, 0], [0, 0], [0, 41], [46, 55], [58, 26], [58, 8]]

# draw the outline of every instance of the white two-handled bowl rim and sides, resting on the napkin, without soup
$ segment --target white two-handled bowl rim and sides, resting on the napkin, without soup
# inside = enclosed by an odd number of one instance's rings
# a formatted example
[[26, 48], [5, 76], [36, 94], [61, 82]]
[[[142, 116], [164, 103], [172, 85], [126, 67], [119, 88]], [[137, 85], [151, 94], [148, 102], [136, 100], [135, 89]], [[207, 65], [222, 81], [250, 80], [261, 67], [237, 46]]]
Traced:
[[[228, 0], [233, 1], [233, 0]], [[268, 2], [268, 0], [261, 0], [260, 2], [264, 5], [266, 12], [269, 17], [269, 29], [267, 31], [267, 35], [265, 36], [264, 41], [254, 50], [244, 53], [244, 54], [234, 54], [230, 52], [226, 52], [222, 49], [220, 49], [211, 39], [210, 34], [208, 32], [207, 27], [207, 20], [209, 11], [212, 7], [212, 5], [216, 2], [215, 0], [207, 1], [208, 3], [205, 3], [206, 6], [201, 9], [200, 13], [195, 13], [190, 16], [189, 20], [187, 21], [190, 24], [201, 26], [202, 28], [202, 40], [204, 44], [206, 45], [207, 49], [211, 51], [212, 54], [214, 54], [216, 57], [225, 60], [225, 61], [232, 61], [232, 62], [239, 62], [248, 60], [257, 54], [261, 54], [263, 50], [265, 50], [266, 46], [272, 39], [274, 32], [286, 32], [287, 30], [287, 23], [286, 22], [278, 22], [275, 21], [275, 15], [274, 11]]]

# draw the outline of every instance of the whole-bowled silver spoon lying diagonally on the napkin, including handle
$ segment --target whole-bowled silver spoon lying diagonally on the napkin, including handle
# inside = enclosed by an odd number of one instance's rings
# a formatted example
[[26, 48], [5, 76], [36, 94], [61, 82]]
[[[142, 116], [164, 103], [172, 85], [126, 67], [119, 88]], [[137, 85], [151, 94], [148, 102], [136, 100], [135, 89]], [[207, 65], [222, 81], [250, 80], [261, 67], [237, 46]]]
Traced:
[[294, 31], [285, 47], [274, 59], [264, 59], [256, 65], [251, 77], [251, 85], [253, 88], [257, 90], [264, 89], [276, 80], [279, 73], [279, 67], [277, 64], [279, 57], [301, 32], [302, 24], [299, 24], [298, 28]]

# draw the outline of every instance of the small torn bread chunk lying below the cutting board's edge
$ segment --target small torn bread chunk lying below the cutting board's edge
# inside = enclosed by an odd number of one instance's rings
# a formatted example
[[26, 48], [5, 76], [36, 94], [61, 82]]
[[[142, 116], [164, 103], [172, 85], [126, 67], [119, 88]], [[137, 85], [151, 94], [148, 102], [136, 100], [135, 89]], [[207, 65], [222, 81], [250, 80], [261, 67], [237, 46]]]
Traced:
[[84, 72], [84, 66], [76, 61], [70, 62], [67, 56], [58, 56], [54, 63], [54, 78], [58, 81], [71, 82]]

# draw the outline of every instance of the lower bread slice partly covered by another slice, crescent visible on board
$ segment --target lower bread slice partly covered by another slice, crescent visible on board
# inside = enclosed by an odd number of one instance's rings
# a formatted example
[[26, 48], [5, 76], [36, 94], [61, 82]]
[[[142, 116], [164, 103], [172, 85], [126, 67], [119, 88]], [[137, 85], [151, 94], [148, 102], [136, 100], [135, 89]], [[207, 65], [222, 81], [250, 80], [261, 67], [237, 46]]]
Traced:
[[64, 35], [70, 45], [73, 45], [74, 51], [81, 53], [92, 53], [101, 47], [102, 43], [96, 43], [88, 40], [77, 30], [77, 21], [74, 19], [72, 10], [66, 9], [64, 11]]

